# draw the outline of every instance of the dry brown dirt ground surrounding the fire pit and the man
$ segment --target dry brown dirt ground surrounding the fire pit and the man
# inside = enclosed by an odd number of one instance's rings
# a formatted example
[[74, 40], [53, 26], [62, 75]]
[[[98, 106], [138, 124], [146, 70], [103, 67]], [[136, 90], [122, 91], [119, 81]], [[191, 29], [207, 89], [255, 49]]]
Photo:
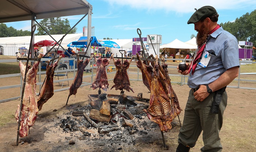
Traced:
[[[171, 77], [172, 78], [172, 77]], [[10, 85], [14, 81], [20, 82], [17, 77], [1, 79], [0, 85]], [[72, 81], [69, 81], [69, 85]], [[119, 95], [120, 91], [114, 89], [113, 81], [109, 81], [108, 94]], [[172, 84], [180, 107], [185, 109], [185, 104], [188, 98], [189, 88], [187, 85]], [[57, 83], [54, 83], [54, 89], [60, 88]], [[142, 81], [131, 81], [131, 88], [135, 91], [126, 92], [126, 95], [137, 96], [138, 93], [143, 93], [144, 98], [149, 98], [150, 93], [142, 83]], [[227, 88], [228, 103], [224, 112], [224, 122], [221, 129], [220, 137], [224, 152], [252, 152], [256, 148], [256, 93], [255, 90]], [[37, 91], [38, 92], [38, 91]], [[102, 90], [102, 93], [105, 92]], [[19, 95], [20, 90], [5, 89], [1, 91], [1, 99], [7, 99], [12, 94]], [[19, 138], [19, 145], [16, 146], [17, 128], [13, 115], [17, 110], [17, 105], [20, 100], [8, 101], [0, 103], [0, 147], [3, 152], [174, 152], [176, 151], [177, 137], [180, 129], [178, 117], [173, 120], [173, 129], [169, 132], [164, 132], [167, 148], [163, 148], [163, 141], [158, 125], [153, 125], [154, 128], [145, 127], [139, 128], [146, 133], [131, 135], [132, 143], [124, 140], [115, 141], [108, 135], [99, 135], [97, 129], [89, 129], [88, 132], [92, 136], [85, 140], [80, 140], [80, 131], [65, 132], [58, 124], [61, 119], [65, 119], [67, 113], [74, 111], [78, 107], [83, 107], [89, 104], [89, 94], [98, 94], [98, 89], [93, 90], [90, 86], [84, 86], [78, 89], [76, 96], [69, 97], [68, 105], [65, 106], [69, 91], [55, 92], [53, 97], [39, 111], [38, 117], [33, 128], [30, 128], [30, 134], [27, 137]], [[5, 96], [5, 97], [3, 97]], [[16, 97], [12, 96], [12, 97]], [[57, 111], [53, 111], [56, 109]], [[70, 115], [72, 116], [72, 115]], [[180, 114], [182, 123], [184, 111]], [[152, 123], [146, 116], [139, 121]], [[176, 125], [175, 125], [176, 124]], [[158, 132], [159, 133], [156, 133]], [[126, 135], [127, 136], [127, 135]], [[129, 135], [128, 135], [129, 136]], [[74, 140], [75, 144], [70, 145], [69, 141]], [[202, 134], [199, 137], [197, 144], [191, 148], [191, 152], [199, 152], [203, 147]]]

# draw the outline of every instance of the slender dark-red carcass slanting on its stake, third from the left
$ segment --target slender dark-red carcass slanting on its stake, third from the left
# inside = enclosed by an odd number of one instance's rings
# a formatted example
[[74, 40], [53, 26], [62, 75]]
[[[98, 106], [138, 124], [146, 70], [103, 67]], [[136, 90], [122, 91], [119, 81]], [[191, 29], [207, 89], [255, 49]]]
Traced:
[[84, 68], [88, 65], [88, 63], [90, 62], [90, 60], [92, 58], [93, 58], [93, 56], [91, 56], [89, 59], [86, 58], [86, 60], [83, 61], [83, 60], [79, 60], [79, 55], [78, 55], [78, 58], [77, 58], [78, 70], [76, 72], [75, 79], [69, 88], [69, 96], [76, 94], [77, 89], [80, 87], [80, 85], [83, 82]]

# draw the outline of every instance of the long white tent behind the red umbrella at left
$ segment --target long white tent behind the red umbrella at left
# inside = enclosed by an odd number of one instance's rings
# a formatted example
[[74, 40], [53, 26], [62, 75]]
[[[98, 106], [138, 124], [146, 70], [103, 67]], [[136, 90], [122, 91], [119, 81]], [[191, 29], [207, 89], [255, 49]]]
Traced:
[[[55, 40], [60, 40], [63, 37], [64, 34], [60, 35], [52, 35], [52, 37]], [[82, 33], [78, 34], [68, 34], [64, 37], [63, 41], [61, 42], [61, 45], [65, 48], [70, 42], [77, 41], [79, 37], [83, 36]], [[49, 35], [40, 35], [40, 36], [34, 36], [35, 37], [35, 43], [42, 40], [52, 40], [52, 37]], [[9, 56], [15, 56], [15, 52], [19, 52], [19, 47], [26, 46], [27, 49], [29, 49], [30, 45], [30, 39], [31, 36], [17, 36], [17, 37], [0, 37], [0, 45], [3, 46], [3, 54], [9, 55]], [[33, 50], [33, 49], [32, 49]]]

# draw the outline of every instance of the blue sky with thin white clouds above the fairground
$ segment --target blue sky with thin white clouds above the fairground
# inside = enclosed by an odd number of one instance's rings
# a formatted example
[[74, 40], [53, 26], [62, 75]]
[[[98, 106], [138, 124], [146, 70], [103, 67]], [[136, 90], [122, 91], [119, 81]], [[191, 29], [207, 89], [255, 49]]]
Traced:
[[[256, 0], [87, 0], [93, 6], [91, 26], [99, 39], [132, 39], [147, 35], [162, 35], [162, 44], [175, 39], [186, 42], [196, 35], [193, 24], [187, 24], [195, 8], [210, 5], [218, 14], [218, 23], [234, 21], [256, 9]], [[65, 16], [73, 27], [83, 15]], [[37, 20], [38, 22], [40, 20]], [[31, 30], [31, 21], [5, 23], [18, 30]], [[83, 33], [87, 16], [76, 26]], [[37, 31], [36, 31], [37, 32]]]

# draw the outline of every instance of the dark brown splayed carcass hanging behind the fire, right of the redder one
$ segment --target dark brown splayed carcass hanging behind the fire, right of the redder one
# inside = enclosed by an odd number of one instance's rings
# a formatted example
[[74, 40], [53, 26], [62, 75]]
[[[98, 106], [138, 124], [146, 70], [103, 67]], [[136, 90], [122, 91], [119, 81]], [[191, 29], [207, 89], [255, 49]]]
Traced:
[[130, 84], [129, 76], [127, 73], [127, 69], [129, 68], [132, 59], [130, 59], [129, 61], [125, 60], [124, 63], [122, 64], [119, 59], [115, 61], [114, 57], [112, 58], [114, 61], [114, 65], [116, 66], [116, 75], [114, 77], [114, 85], [112, 86], [112, 88], [115, 87], [116, 90], [125, 89], [128, 92], [130, 92], [129, 90], [131, 90], [134, 93], [134, 91], [130, 87], [131, 84]]

